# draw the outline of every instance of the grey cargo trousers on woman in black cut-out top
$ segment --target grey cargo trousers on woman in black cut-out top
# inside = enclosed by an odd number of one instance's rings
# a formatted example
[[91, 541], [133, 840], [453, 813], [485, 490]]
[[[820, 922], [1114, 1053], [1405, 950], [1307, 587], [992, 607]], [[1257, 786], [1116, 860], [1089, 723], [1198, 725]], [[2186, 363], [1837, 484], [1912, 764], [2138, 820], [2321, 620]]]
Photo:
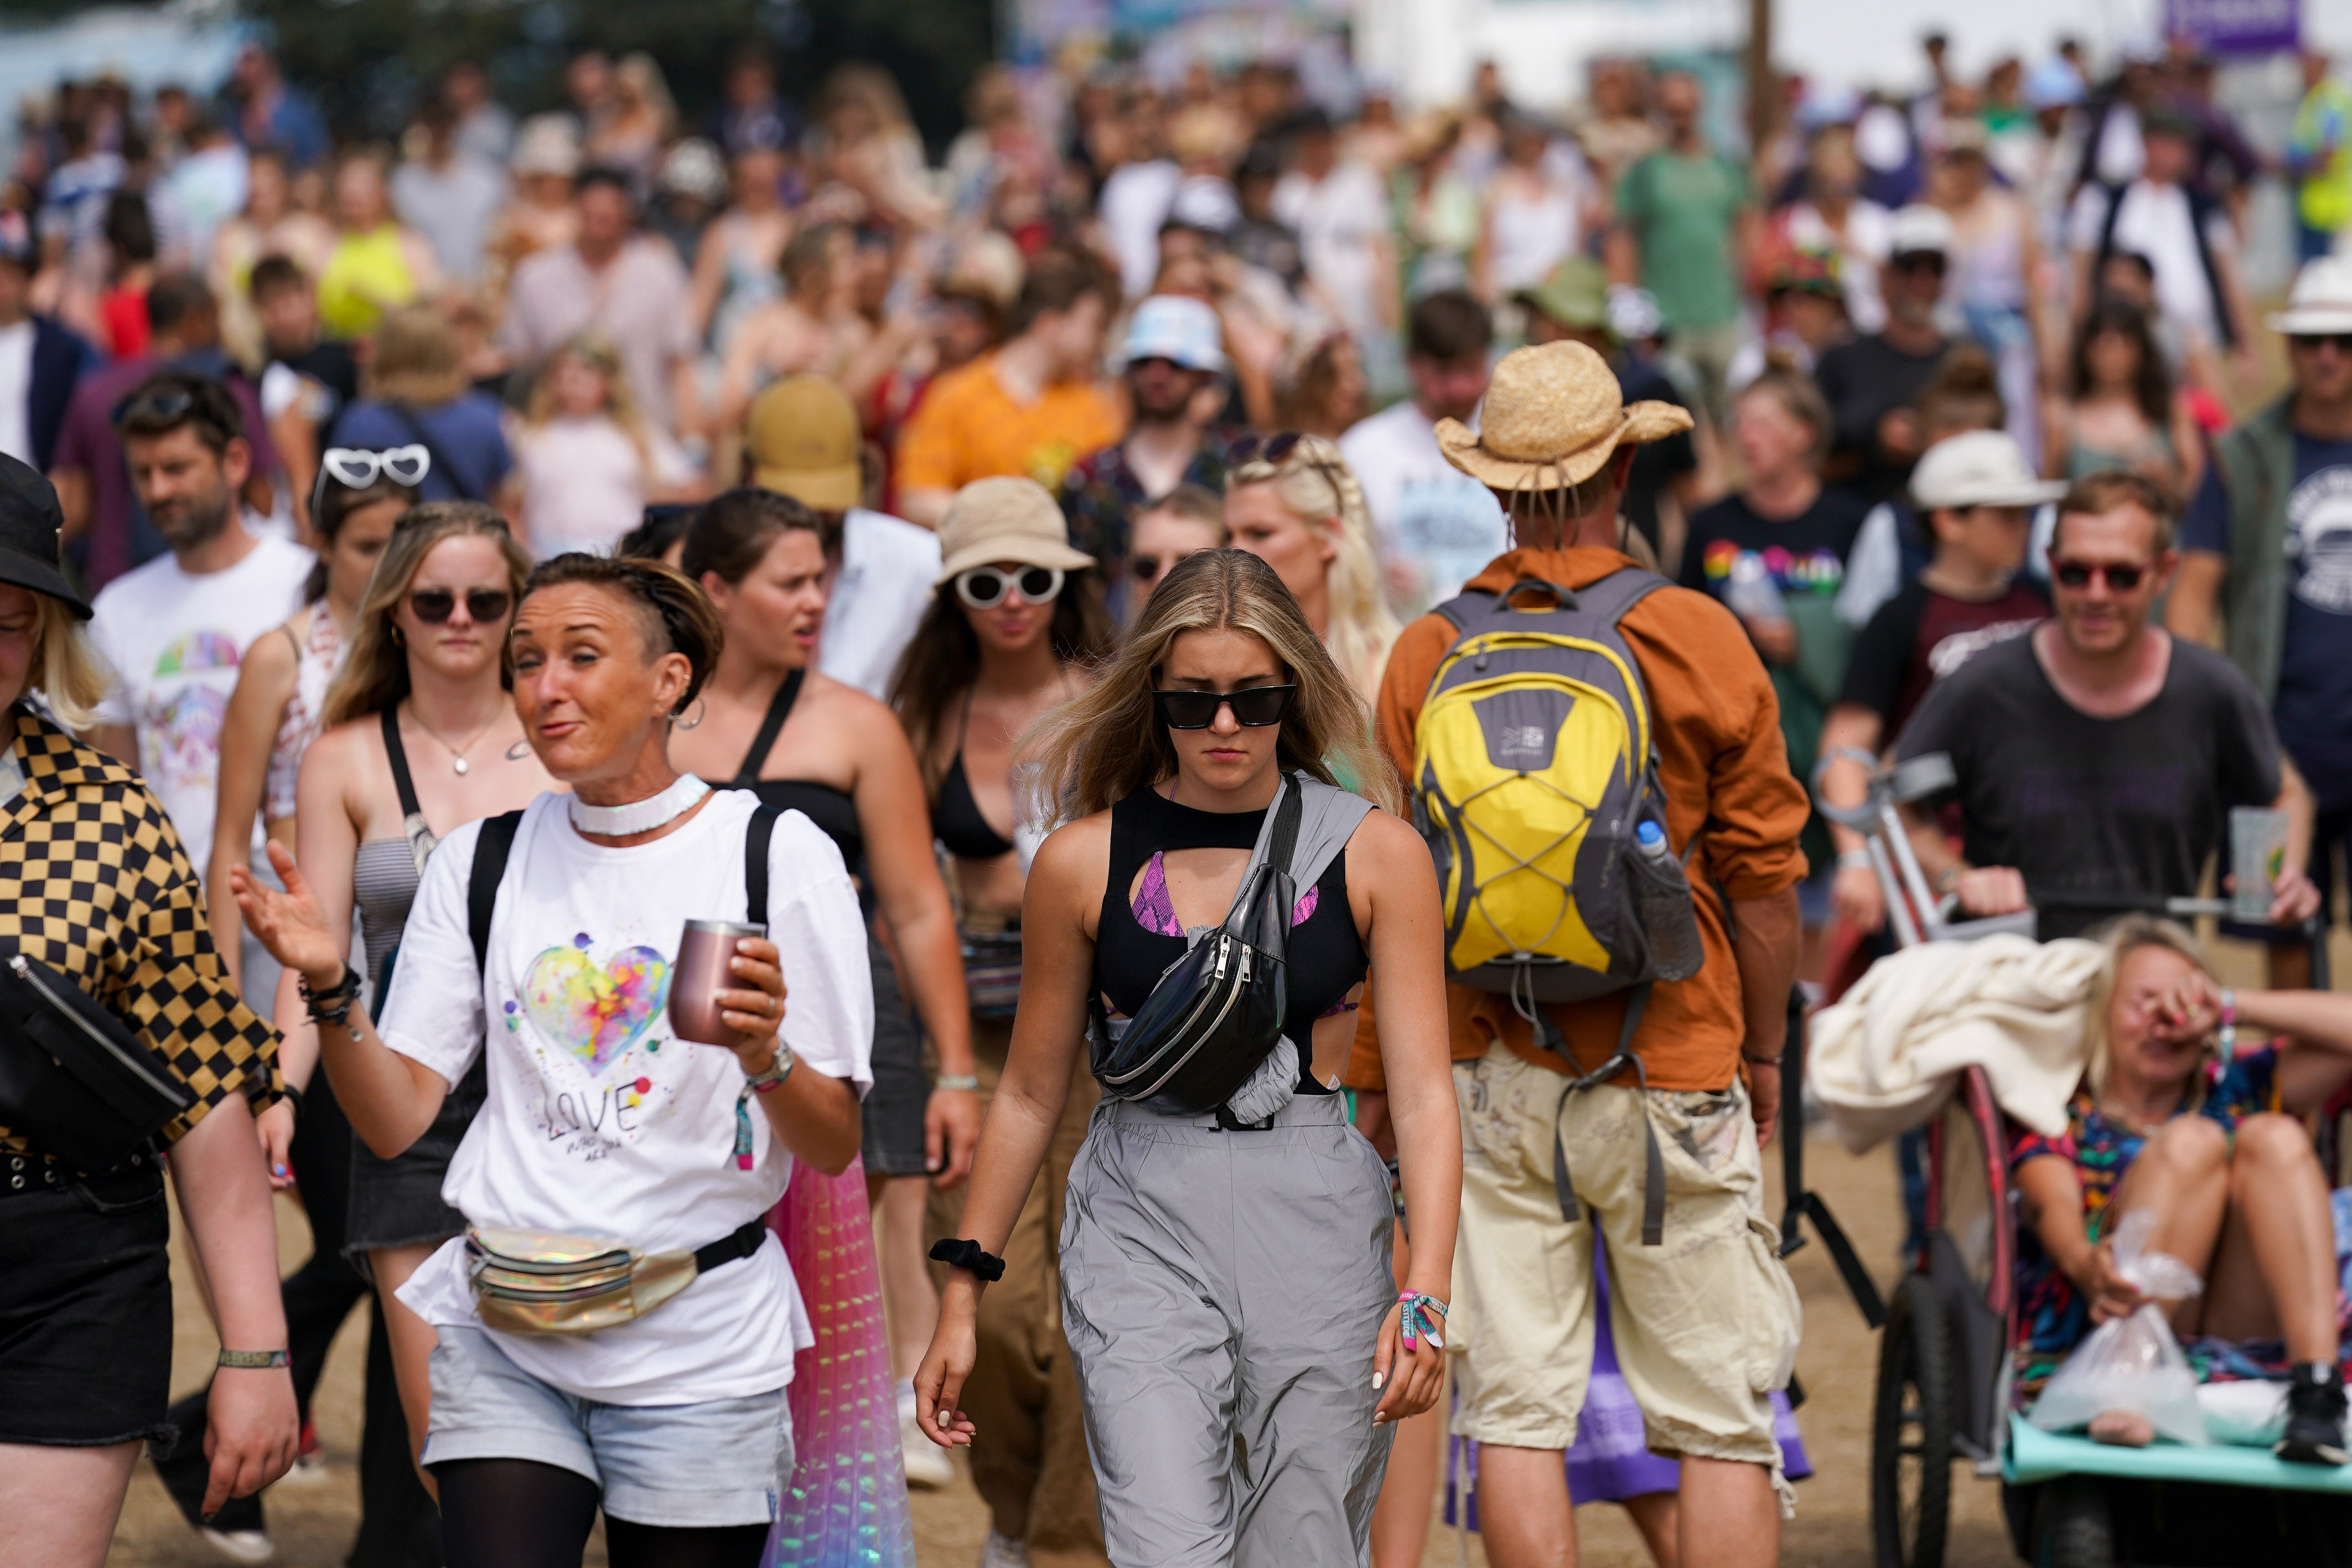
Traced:
[[1117, 1568], [1369, 1561], [1388, 1171], [1341, 1095], [1272, 1121], [1103, 1100], [1070, 1168], [1063, 1333]]

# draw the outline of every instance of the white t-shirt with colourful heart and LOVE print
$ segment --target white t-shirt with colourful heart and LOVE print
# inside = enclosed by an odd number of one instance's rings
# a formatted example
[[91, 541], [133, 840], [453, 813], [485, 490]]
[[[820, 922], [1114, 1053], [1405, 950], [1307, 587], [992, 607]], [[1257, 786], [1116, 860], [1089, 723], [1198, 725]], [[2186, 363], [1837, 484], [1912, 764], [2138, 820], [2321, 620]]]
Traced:
[[[470, 1225], [612, 1237], [647, 1253], [699, 1248], [764, 1215], [793, 1157], [750, 1103], [750, 1168], [736, 1164], [734, 1053], [673, 1039], [670, 966], [689, 919], [746, 917], [743, 830], [757, 799], [720, 790], [691, 823], [633, 849], [590, 844], [567, 797], [522, 816], [475, 976], [466, 886], [480, 823], [426, 863], [379, 1030], [456, 1084], [489, 1051], [489, 1100], [466, 1131], [442, 1199]], [[783, 1044], [797, 1072], [873, 1084], [866, 924], [842, 856], [786, 811], [769, 844], [769, 938], [788, 987]], [[400, 1291], [428, 1324], [480, 1328], [463, 1239]], [[506, 1356], [581, 1399], [619, 1406], [741, 1399], [793, 1380], [811, 1345], [783, 1248], [696, 1279], [647, 1316], [590, 1335], [492, 1331]]]

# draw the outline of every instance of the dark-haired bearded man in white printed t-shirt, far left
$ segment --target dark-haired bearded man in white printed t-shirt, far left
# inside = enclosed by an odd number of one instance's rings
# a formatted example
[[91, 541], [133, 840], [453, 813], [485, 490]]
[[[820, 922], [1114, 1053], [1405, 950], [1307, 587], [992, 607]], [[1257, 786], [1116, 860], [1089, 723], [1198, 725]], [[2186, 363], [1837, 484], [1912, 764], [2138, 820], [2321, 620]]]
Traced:
[[[94, 741], [136, 762], [191, 865], [212, 856], [221, 717], [245, 649], [301, 607], [313, 555], [238, 515], [245, 416], [219, 381], [151, 376], [115, 418], [139, 503], [172, 545], [99, 592], [89, 635], [115, 672]], [[259, 846], [259, 823], [254, 844]]]

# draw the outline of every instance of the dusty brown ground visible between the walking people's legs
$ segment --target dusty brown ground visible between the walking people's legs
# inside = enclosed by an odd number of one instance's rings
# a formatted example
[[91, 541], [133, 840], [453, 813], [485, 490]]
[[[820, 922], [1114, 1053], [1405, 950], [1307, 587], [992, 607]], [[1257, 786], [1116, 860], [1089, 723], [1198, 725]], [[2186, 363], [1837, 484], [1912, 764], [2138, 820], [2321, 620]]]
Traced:
[[[2336, 973], [2352, 973], [2352, 945], [2338, 936]], [[2218, 964], [2237, 985], [2258, 985], [2249, 950], [2225, 950]], [[1780, 1164], [1771, 1166], [1771, 1213], [1780, 1213]], [[1806, 1185], [1820, 1192], [1844, 1220], [1856, 1248], [1870, 1262], [1882, 1286], [1893, 1274], [1900, 1225], [1896, 1213], [1893, 1157], [1884, 1150], [1853, 1159], [1828, 1138], [1806, 1143]], [[280, 1208], [280, 1255], [287, 1267], [308, 1253], [308, 1227], [292, 1204]], [[1863, 1324], [1837, 1279], [1828, 1253], [1816, 1244], [1790, 1258], [1790, 1276], [1804, 1298], [1804, 1347], [1797, 1375], [1809, 1394], [1797, 1413], [1804, 1443], [1813, 1458], [1813, 1479], [1797, 1488], [1797, 1519], [1783, 1533], [1783, 1561], [1809, 1568], [1870, 1566], [1870, 1394], [1877, 1378], [1877, 1335]], [[270, 1528], [278, 1540], [278, 1563], [285, 1568], [339, 1568], [355, 1526], [360, 1422], [360, 1368], [365, 1356], [365, 1314], [355, 1314], [336, 1340], [318, 1396], [320, 1443], [327, 1453], [322, 1474], [313, 1481], [280, 1483], [270, 1490]], [[179, 1302], [179, 1345], [174, 1368], [179, 1387], [191, 1387], [212, 1363], [216, 1342], [202, 1307], [186, 1288]], [[1583, 1561], [1592, 1568], [1637, 1568], [1649, 1561], [1625, 1516], [1595, 1505], [1578, 1514]], [[922, 1568], [971, 1568], [981, 1554], [985, 1516], [969, 1483], [946, 1493], [915, 1493], [915, 1552]], [[155, 1474], [139, 1465], [132, 1495], [115, 1528], [108, 1568], [212, 1568], [212, 1554], [179, 1519]], [[588, 1559], [602, 1568], [602, 1549]], [[1477, 1537], [1458, 1537], [1442, 1521], [1430, 1533], [1423, 1559], [1430, 1568], [1484, 1568]], [[1999, 1486], [1976, 1481], [1966, 1472], [1952, 1483], [1950, 1568], [2002, 1568], [2016, 1563], [2002, 1526]]]

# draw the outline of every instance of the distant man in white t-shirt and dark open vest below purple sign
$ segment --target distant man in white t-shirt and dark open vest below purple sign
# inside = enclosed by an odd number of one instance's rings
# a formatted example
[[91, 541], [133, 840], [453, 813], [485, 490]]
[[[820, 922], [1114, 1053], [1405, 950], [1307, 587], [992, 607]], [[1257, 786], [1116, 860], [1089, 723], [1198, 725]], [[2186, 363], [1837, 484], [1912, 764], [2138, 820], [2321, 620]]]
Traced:
[[2190, 190], [2197, 129], [2171, 115], [2140, 127], [2140, 176], [2089, 183], [2067, 219], [2074, 252], [2074, 320], [2091, 313], [2107, 256], [2145, 256], [2157, 280], [2157, 310], [2194, 348], [2241, 348], [2246, 289], [2237, 270], [2237, 228], [2218, 202]]

